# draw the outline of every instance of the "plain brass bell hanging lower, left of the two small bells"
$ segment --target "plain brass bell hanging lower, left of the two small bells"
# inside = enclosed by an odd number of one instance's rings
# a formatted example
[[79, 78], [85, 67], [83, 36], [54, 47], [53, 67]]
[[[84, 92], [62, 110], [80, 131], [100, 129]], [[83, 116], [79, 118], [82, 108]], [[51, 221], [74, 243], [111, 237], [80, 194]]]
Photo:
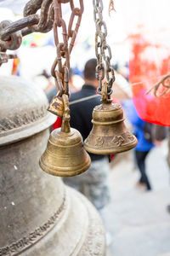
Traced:
[[91, 160], [83, 148], [79, 131], [71, 128], [70, 132], [63, 132], [58, 128], [52, 131], [39, 164], [44, 172], [68, 177], [88, 170]]

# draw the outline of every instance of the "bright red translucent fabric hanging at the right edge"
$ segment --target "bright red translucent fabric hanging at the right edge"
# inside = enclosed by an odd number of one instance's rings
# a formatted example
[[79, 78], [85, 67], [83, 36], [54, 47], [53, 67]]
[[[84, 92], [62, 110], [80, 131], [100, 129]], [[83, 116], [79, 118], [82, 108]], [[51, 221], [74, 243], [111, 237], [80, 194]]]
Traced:
[[[165, 55], [167, 49], [163, 45], [149, 44], [141, 34], [131, 39], [133, 48], [129, 61], [129, 81], [133, 84], [134, 106], [141, 119], [170, 126], [170, 93], [156, 97], [151, 91], [146, 95], [161, 76], [169, 73], [170, 51]], [[159, 88], [160, 93], [163, 90], [162, 87]]]

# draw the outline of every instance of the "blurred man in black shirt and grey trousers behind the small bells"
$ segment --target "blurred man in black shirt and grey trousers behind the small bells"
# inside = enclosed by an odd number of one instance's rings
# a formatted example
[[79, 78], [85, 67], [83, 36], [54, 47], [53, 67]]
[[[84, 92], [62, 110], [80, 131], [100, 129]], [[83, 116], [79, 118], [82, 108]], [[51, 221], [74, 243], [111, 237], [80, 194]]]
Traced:
[[[82, 86], [82, 90], [71, 94], [71, 127], [80, 131], [83, 141], [92, 130], [91, 120], [94, 107], [101, 103], [100, 96], [96, 94], [97, 87], [99, 87], [99, 81], [95, 77], [96, 66], [96, 59], [90, 59], [86, 62], [84, 67], [85, 84]], [[88, 96], [94, 97], [74, 103], [74, 101]], [[88, 200], [100, 211], [110, 201], [108, 180], [110, 165], [105, 155], [89, 155], [92, 163], [88, 171], [76, 177], [65, 177], [64, 181], [87, 196]]]

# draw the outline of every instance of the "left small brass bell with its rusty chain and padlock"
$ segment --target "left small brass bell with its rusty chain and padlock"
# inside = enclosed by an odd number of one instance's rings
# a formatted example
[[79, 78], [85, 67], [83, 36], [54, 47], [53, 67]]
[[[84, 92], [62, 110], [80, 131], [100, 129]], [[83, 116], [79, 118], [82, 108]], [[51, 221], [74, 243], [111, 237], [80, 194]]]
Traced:
[[[83, 1], [79, 0], [80, 8], [75, 8], [73, 0], [54, 1], [54, 41], [57, 56], [51, 73], [54, 76], [58, 95], [49, 105], [48, 111], [63, 117], [61, 128], [54, 130], [48, 140], [48, 146], [40, 159], [42, 170], [55, 176], [75, 176], [88, 170], [91, 160], [83, 148], [82, 136], [79, 131], [70, 128], [69, 108], [69, 69], [70, 54], [80, 26], [83, 11]], [[62, 17], [61, 3], [70, 3], [71, 19], [68, 32]], [[77, 23], [75, 29], [72, 26]], [[58, 29], [62, 29], [62, 42], [59, 43]], [[71, 42], [69, 44], [69, 40]], [[58, 69], [57, 69], [58, 68]], [[63, 105], [62, 102], [63, 101]], [[64, 107], [64, 108], [63, 108]], [[64, 110], [64, 111], [63, 111]]]

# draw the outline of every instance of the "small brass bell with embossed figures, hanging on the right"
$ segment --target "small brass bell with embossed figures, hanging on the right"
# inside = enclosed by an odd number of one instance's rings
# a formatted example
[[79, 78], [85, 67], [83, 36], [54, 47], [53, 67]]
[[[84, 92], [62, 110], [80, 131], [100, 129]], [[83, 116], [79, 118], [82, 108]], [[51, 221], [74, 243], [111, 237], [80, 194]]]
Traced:
[[124, 124], [122, 107], [103, 103], [94, 108], [93, 128], [84, 148], [93, 154], [117, 154], [134, 148], [138, 141]]

